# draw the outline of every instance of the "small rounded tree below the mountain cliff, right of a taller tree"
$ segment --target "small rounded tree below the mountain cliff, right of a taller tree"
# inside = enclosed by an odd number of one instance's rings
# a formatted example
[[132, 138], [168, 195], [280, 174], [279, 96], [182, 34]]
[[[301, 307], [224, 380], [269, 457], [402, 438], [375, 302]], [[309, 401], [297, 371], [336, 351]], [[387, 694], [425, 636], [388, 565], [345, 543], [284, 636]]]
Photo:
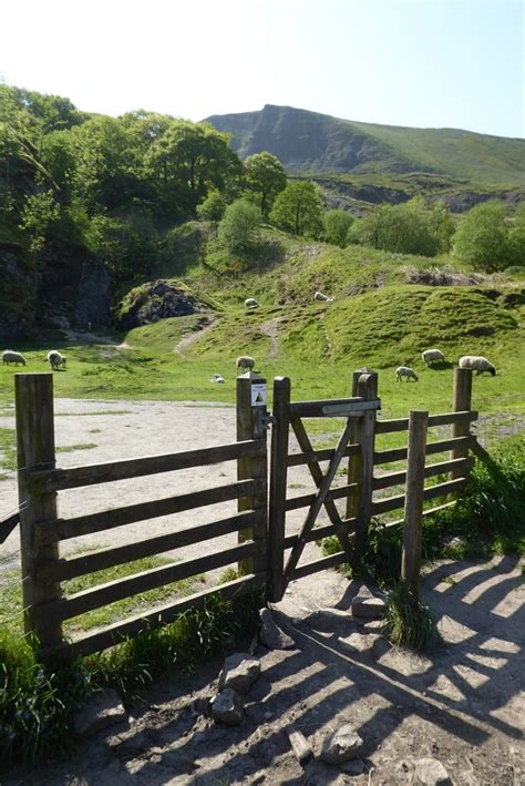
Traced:
[[322, 231], [322, 198], [310, 181], [288, 183], [277, 196], [271, 221], [295, 235], [318, 237]]

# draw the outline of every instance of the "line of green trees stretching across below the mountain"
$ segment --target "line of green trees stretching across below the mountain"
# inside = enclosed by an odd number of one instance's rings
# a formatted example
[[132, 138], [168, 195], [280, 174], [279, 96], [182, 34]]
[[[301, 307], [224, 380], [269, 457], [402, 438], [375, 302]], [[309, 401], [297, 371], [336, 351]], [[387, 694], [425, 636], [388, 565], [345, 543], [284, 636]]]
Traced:
[[48, 265], [101, 259], [115, 286], [147, 277], [173, 227], [191, 220], [244, 263], [261, 223], [298, 236], [434, 256], [485, 270], [521, 264], [525, 210], [488, 202], [461, 221], [414, 197], [364, 215], [325, 210], [319, 187], [287, 178], [268, 152], [244, 162], [206, 123], [136, 111], [80, 112], [68, 99], [0, 84], [0, 244], [19, 248], [35, 287]]

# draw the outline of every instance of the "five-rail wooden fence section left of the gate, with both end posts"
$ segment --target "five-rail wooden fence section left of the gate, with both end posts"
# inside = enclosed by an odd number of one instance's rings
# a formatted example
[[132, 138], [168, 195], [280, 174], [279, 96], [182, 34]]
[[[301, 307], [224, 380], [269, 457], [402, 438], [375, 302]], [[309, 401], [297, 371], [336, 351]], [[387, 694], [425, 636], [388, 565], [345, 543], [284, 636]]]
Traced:
[[[205, 603], [212, 593], [231, 599], [265, 585], [267, 448], [262, 414], [266, 408], [249, 406], [251, 386], [264, 381], [258, 378], [255, 380], [253, 376], [244, 375], [237, 380], [237, 442], [165, 456], [58, 469], [52, 375], [16, 375], [19, 496], [24, 501], [20, 508], [24, 627], [27, 632], [37, 634], [44, 654], [68, 659], [85, 655], [137, 633], [146, 624], [169, 622], [186, 609]], [[56, 493], [64, 489], [234, 460], [238, 466], [236, 482], [97, 513], [84, 513], [71, 519], [58, 516]], [[238, 513], [217, 521], [87, 554], [61, 557], [59, 553], [60, 541], [69, 538], [228, 500], [238, 501]], [[239, 533], [238, 544], [198, 559], [161, 565], [70, 595], [64, 594], [61, 585], [61, 582], [75, 576], [233, 532]], [[153, 608], [103, 630], [83, 634], [73, 642], [64, 639], [62, 623], [65, 620], [146, 590], [238, 562], [247, 571], [239, 579]]]

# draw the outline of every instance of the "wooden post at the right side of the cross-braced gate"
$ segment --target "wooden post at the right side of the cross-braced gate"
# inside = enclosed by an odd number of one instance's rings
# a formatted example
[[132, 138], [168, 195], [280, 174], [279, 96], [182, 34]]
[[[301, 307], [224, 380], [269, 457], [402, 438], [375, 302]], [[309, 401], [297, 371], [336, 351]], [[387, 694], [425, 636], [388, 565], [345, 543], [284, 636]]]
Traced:
[[[378, 375], [353, 372], [352, 396], [359, 396], [364, 401], [378, 398]], [[372, 479], [373, 479], [373, 449], [375, 439], [374, 409], [366, 410], [350, 432], [350, 441], [360, 445], [360, 452], [351, 456], [348, 462], [348, 482], [358, 483], [357, 496], [347, 499], [347, 518], [357, 518], [356, 539], [353, 547], [353, 568], [359, 564], [364, 555], [368, 541], [368, 530], [372, 514]]]

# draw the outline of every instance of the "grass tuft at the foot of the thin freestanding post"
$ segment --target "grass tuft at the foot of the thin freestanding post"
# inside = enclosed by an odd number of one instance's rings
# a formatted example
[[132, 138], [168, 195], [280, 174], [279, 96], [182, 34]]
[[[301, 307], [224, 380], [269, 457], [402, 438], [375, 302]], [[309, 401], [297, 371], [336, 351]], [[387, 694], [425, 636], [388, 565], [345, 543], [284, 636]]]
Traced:
[[404, 584], [398, 584], [389, 595], [384, 633], [392, 644], [418, 652], [430, 652], [441, 642], [434, 614], [414, 600]]

